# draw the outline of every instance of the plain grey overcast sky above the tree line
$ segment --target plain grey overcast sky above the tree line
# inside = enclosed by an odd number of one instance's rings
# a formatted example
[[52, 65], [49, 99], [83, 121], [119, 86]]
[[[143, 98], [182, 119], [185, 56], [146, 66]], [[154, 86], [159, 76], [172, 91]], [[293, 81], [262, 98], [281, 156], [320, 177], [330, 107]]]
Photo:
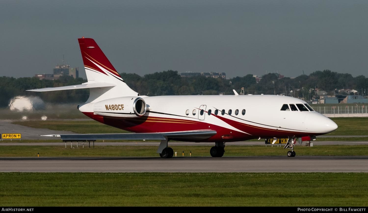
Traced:
[[0, 76], [52, 73], [64, 54], [85, 78], [82, 36], [118, 72], [368, 77], [366, 0], [1, 0]]

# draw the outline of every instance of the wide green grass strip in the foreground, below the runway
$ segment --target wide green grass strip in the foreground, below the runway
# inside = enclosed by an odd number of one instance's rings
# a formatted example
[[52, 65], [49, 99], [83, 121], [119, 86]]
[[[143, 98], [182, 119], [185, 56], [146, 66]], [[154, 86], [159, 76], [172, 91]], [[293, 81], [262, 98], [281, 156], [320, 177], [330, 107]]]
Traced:
[[0, 173], [0, 178], [1, 206], [368, 204], [368, 173]]

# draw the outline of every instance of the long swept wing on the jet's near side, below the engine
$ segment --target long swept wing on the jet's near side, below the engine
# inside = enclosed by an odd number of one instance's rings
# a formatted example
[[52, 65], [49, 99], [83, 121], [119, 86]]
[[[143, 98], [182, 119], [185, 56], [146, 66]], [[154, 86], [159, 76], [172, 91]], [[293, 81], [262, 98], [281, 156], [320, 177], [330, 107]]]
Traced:
[[215, 130], [196, 130], [180, 132], [155, 132], [155, 133], [123, 133], [123, 134], [71, 134], [71, 135], [42, 135], [61, 137], [63, 141], [89, 141], [89, 140], [165, 140], [167, 139], [192, 139], [200, 140], [216, 135]]

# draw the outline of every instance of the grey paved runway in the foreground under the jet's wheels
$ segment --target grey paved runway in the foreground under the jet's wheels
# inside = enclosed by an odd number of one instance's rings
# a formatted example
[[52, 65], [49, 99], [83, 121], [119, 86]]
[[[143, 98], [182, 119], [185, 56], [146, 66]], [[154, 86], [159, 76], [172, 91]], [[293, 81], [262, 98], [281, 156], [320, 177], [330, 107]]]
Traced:
[[0, 172], [368, 172], [368, 156], [10, 157]]

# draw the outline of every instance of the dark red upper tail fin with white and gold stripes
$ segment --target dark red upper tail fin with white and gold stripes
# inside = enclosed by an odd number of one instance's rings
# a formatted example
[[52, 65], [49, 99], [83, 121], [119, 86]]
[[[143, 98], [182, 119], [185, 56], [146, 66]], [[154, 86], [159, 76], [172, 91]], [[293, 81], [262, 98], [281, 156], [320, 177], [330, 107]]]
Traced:
[[95, 40], [91, 38], [80, 38], [78, 39], [78, 42], [81, 48], [85, 69], [102, 72], [105, 75], [108, 75], [106, 72], [109, 72], [110, 74], [121, 78], [110, 63], [109, 59], [107, 59], [105, 54], [103, 54]]

